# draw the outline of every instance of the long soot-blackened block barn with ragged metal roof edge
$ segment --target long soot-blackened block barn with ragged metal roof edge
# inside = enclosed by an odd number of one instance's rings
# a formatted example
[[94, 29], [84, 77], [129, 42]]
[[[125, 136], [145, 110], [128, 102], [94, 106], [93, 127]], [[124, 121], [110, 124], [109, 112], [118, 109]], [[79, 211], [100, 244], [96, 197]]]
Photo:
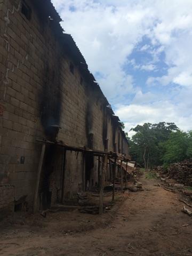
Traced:
[[50, 0], [0, 1], [0, 210], [50, 207], [97, 187], [129, 145]]

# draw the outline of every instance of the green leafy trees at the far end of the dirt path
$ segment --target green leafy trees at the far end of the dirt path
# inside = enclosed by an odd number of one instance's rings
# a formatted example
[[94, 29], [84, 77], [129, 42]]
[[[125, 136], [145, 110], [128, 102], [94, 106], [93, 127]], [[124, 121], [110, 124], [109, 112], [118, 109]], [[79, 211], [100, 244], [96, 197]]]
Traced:
[[182, 132], [174, 123], [145, 123], [131, 130], [130, 155], [146, 169], [192, 156], [192, 132]]

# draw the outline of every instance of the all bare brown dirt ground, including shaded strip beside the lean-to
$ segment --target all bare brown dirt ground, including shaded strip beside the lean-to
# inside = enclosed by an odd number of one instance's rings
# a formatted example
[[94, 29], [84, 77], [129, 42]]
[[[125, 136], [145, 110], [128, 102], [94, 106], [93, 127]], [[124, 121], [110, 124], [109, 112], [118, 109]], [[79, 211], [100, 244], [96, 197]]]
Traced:
[[157, 180], [140, 181], [144, 191], [125, 193], [116, 212], [102, 217], [50, 213], [30, 226], [0, 226], [0, 255], [192, 255], [192, 217], [181, 212], [179, 194], [154, 186]]

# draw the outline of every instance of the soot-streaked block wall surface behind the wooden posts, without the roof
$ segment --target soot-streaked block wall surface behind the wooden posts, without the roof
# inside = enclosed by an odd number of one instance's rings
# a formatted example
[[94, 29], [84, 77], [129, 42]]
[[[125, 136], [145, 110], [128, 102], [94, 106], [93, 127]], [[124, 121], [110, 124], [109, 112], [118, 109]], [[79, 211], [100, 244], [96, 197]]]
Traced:
[[[87, 84], [79, 66], [65, 53], [52, 21], [48, 17], [42, 20], [33, 1], [25, 2], [31, 9], [30, 20], [21, 13], [22, 1], [0, 0], [0, 179], [7, 178], [14, 186], [16, 201], [27, 195], [30, 205], [41, 154], [36, 139], [47, 137], [45, 124], [61, 127], [58, 140], [87, 147], [87, 108], [91, 106], [93, 147], [103, 150], [105, 106], [103, 97]], [[73, 73], [70, 65], [74, 66]], [[111, 125], [109, 118], [108, 150], [113, 151]], [[58, 164], [50, 173], [52, 203], [61, 189], [61, 155], [54, 156]], [[95, 182], [96, 159], [92, 173]], [[66, 197], [73, 196], [82, 184], [82, 163], [81, 153], [67, 152]]]

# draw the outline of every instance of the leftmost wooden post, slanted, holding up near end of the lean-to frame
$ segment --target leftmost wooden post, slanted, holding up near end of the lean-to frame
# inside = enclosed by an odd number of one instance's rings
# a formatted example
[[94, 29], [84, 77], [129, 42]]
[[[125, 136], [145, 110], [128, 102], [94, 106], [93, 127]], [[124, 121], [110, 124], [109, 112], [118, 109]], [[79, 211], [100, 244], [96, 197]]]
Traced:
[[38, 203], [38, 190], [39, 190], [39, 183], [41, 179], [41, 173], [42, 173], [42, 166], [43, 166], [43, 159], [45, 155], [45, 143], [42, 146], [41, 156], [39, 159], [38, 169], [37, 169], [37, 180], [36, 180], [36, 186], [35, 186], [35, 195], [34, 195], [34, 213], [37, 212], [37, 203]]

